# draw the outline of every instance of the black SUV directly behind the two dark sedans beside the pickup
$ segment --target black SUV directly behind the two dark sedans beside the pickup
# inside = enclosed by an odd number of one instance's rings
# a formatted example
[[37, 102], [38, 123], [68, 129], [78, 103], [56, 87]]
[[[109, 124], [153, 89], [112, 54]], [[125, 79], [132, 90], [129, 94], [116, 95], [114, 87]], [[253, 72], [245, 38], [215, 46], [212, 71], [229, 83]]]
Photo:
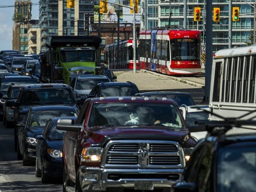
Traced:
[[[26, 76], [24, 76], [26, 77]], [[79, 104], [79, 103], [78, 103]], [[31, 106], [64, 105], [79, 111], [76, 97], [67, 84], [24, 85], [17, 101], [7, 101], [6, 107], [14, 107], [14, 124], [22, 121]], [[14, 147], [17, 150], [17, 126], [14, 126]]]

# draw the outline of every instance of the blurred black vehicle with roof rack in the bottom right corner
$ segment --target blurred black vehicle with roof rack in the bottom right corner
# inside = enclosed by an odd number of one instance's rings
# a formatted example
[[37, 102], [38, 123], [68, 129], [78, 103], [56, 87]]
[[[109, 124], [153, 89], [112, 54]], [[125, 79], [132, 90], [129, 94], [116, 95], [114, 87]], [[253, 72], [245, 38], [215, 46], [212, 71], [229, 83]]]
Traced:
[[250, 120], [207, 123], [208, 136], [196, 144], [172, 192], [255, 191], [255, 124]]

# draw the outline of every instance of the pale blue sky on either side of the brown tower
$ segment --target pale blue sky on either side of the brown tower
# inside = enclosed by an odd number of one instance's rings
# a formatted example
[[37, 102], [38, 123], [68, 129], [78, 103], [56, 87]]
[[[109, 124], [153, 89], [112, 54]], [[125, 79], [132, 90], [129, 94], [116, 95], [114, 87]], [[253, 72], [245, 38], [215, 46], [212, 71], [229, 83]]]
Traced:
[[[39, 0], [31, 0], [32, 2], [32, 18], [39, 17]], [[0, 6], [0, 50], [12, 49], [12, 28], [13, 28], [13, 14], [15, 0], [3, 1]]]

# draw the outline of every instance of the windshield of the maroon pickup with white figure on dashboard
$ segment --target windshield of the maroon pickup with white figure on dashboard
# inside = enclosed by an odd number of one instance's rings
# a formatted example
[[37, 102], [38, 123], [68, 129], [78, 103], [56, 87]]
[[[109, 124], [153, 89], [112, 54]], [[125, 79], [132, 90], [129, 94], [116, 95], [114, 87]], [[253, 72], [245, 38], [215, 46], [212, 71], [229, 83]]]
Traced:
[[89, 127], [104, 125], [159, 125], [182, 128], [174, 105], [159, 103], [95, 103], [89, 116]]

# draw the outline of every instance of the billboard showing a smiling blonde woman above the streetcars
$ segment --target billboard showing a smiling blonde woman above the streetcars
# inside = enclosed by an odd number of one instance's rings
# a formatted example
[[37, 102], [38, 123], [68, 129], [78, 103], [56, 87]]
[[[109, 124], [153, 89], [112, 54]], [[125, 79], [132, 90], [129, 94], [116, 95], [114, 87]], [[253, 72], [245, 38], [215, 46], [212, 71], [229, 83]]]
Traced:
[[[114, 3], [114, 4], [112, 4]], [[118, 5], [117, 5], [118, 4]], [[133, 23], [133, 13], [130, 12], [130, 8], [123, 7], [130, 6], [130, 0], [108, 0], [106, 13], [100, 14], [101, 23], [117, 23], [118, 19], [120, 23]], [[139, 13], [135, 14], [136, 24], [141, 23], [141, 8], [139, 7]], [[99, 23], [99, 6], [94, 6], [94, 23]]]

